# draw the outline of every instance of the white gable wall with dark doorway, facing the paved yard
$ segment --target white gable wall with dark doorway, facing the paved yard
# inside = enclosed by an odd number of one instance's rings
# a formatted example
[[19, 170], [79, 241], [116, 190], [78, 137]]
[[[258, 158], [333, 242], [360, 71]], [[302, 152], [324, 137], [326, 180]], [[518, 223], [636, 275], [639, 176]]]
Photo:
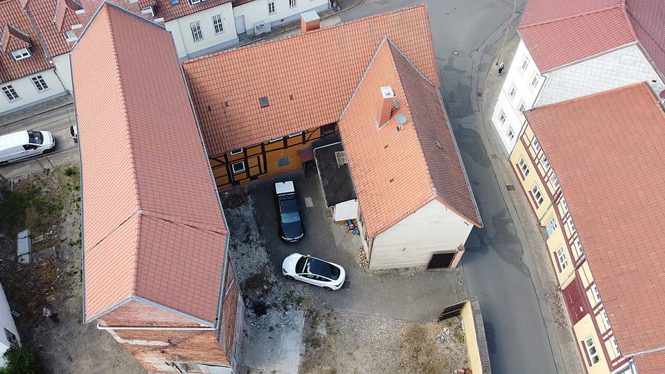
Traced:
[[[362, 201], [360, 204], [362, 208]], [[456, 252], [472, 227], [441, 202], [432, 200], [374, 238], [369, 268], [425, 266], [433, 253]]]

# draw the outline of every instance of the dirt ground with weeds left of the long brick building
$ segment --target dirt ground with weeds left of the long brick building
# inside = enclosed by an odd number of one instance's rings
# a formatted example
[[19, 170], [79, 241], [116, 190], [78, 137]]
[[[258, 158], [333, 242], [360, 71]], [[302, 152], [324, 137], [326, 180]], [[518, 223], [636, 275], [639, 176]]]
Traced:
[[[0, 282], [15, 323], [47, 373], [144, 373], [95, 323], [82, 323], [78, 166], [6, 181], [0, 200]], [[31, 261], [17, 262], [16, 234], [30, 229]], [[44, 318], [51, 308], [59, 322]]]

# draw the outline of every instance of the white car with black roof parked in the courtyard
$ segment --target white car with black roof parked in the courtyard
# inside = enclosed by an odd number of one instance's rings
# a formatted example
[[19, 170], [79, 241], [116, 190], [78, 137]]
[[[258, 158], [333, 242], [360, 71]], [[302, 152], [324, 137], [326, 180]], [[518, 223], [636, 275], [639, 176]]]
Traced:
[[311, 283], [326, 290], [339, 290], [346, 278], [343, 267], [300, 253], [293, 253], [284, 259], [282, 274], [286, 278]]

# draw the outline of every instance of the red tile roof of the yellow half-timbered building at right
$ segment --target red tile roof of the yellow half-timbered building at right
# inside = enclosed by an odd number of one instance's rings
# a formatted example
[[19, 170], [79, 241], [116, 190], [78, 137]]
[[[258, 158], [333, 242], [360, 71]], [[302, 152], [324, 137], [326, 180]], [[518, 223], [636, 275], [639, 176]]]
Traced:
[[665, 346], [662, 106], [639, 83], [526, 118], [556, 171], [621, 353]]

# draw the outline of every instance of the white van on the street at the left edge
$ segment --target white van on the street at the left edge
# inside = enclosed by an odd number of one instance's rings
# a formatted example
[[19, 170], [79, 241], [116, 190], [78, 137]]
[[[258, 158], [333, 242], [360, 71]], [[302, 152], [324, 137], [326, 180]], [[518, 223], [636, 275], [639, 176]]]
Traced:
[[0, 136], [0, 163], [10, 163], [39, 156], [55, 148], [48, 131], [21, 131]]

